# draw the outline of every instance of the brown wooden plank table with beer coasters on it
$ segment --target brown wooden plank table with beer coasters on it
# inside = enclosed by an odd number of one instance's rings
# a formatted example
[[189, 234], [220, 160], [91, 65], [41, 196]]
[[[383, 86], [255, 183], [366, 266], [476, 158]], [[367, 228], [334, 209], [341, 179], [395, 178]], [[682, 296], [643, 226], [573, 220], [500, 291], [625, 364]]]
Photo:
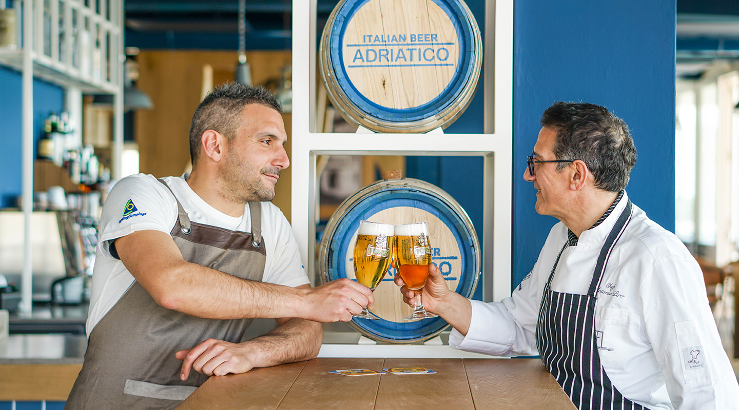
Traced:
[[[426, 375], [344, 376], [336, 369], [423, 366]], [[316, 358], [211, 377], [178, 410], [575, 409], [539, 359]]]

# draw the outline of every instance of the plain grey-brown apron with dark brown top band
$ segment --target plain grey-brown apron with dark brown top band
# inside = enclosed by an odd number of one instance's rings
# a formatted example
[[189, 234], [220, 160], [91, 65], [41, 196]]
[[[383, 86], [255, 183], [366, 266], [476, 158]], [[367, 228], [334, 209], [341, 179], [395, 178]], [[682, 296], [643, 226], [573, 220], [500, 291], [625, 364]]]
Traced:
[[[191, 222], [176, 197], [175, 201], [178, 217], [171, 236], [185, 260], [262, 281], [267, 255], [262, 204], [249, 203], [252, 233], [246, 233]], [[208, 380], [208, 375], [195, 371], [180, 380], [183, 362], [174, 353], [208, 338], [239, 343], [250, 324], [251, 319], [203, 319], [166, 309], [134, 281], [92, 329], [82, 370], [64, 409], [174, 409]]]

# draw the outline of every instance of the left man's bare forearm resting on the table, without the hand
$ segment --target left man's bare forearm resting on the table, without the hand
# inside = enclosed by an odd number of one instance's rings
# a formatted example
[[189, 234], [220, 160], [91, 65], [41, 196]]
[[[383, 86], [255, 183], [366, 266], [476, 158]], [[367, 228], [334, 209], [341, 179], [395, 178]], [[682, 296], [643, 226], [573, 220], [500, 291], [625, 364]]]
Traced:
[[276, 366], [316, 358], [323, 341], [320, 323], [293, 318], [265, 336], [245, 341], [254, 367]]

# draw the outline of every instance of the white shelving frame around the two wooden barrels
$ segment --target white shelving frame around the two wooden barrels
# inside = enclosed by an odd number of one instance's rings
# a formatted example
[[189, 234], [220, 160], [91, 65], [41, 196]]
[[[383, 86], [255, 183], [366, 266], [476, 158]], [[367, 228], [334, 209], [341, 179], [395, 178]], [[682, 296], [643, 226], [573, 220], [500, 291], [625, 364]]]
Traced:
[[[478, 24], [481, 24], [478, 21]], [[511, 289], [513, 1], [488, 0], [485, 19], [485, 133], [316, 132], [316, 0], [293, 0], [292, 225], [315, 283], [319, 155], [483, 156], [483, 299]], [[478, 232], [478, 235], [480, 232]]]

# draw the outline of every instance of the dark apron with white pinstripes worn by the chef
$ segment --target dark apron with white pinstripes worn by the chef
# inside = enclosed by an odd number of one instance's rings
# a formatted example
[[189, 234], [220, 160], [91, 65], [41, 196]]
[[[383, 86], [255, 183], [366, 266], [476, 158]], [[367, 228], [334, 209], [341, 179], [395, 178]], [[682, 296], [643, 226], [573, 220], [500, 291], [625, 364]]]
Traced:
[[616, 241], [631, 219], [631, 201], [608, 234], [598, 256], [587, 295], [551, 291], [559, 251], [544, 288], [537, 322], [537, 348], [542, 363], [580, 410], [645, 409], [613, 386], [600, 362], [596, 345], [596, 291]]

